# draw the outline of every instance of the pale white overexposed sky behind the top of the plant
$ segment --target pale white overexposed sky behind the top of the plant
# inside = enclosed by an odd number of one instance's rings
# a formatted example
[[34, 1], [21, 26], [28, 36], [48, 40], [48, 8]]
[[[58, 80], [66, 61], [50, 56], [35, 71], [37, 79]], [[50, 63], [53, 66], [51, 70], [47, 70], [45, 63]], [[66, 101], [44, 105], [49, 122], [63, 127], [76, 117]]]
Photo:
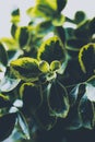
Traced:
[[[25, 11], [34, 3], [35, 0], [0, 0], [0, 38], [10, 36], [11, 11], [19, 7], [22, 14], [22, 24], [25, 25], [28, 20]], [[86, 11], [87, 16], [92, 19], [95, 15], [95, 0], [68, 0], [63, 13], [69, 17], [73, 17], [78, 10]]]

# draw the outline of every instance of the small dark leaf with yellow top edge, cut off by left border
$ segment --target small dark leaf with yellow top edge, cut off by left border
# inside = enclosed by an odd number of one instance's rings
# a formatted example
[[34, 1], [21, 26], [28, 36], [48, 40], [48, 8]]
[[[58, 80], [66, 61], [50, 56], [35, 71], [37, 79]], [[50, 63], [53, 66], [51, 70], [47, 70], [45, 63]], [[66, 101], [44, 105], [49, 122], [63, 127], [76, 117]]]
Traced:
[[0, 108], [3, 107], [11, 107], [11, 102], [8, 96], [0, 94]]

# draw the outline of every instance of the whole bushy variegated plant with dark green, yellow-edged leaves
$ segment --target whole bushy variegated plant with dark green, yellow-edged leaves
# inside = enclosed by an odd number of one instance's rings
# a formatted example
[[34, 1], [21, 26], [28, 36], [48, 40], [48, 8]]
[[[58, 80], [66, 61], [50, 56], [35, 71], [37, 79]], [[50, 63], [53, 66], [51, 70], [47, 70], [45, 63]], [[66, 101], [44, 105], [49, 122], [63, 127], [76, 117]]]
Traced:
[[[66, 131], [95, 128], [95, 17], [78, 11], [71, 20], [66, 4], [36, 0], [25, 26], [20, 9], [11, 13], [11, 38], [0, 39], [0, 141], [63, 130], [64, 142]], [[59, 141], [50, 137], [38, 142]]]

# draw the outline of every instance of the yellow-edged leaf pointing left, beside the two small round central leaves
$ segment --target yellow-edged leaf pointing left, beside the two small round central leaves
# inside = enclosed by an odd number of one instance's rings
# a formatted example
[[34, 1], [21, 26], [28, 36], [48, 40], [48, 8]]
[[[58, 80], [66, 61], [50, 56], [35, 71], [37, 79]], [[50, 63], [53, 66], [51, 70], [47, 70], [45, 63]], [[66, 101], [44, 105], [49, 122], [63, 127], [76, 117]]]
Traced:
[[40, 73], [38, 61], [34, 58], [23, 57], [12, 61], [11, 70], [13, 74], [23, 81], [37, 81]]

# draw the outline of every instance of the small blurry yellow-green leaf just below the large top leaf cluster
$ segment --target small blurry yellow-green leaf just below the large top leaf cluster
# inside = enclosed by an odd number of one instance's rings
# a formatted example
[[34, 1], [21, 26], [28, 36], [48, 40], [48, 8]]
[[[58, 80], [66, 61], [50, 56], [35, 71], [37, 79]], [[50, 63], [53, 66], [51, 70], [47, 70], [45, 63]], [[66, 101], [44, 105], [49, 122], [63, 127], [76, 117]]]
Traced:
[[56, 15], [56, 17], [54, 17], [54, 20], [52, 20], [52, 25], [54, 26], [61, 26], [61, 25], [63, 25], [63, 23], [64, 23], [64, 16], [62, 15], [62, 14], [60, 14], [60, 15]]

